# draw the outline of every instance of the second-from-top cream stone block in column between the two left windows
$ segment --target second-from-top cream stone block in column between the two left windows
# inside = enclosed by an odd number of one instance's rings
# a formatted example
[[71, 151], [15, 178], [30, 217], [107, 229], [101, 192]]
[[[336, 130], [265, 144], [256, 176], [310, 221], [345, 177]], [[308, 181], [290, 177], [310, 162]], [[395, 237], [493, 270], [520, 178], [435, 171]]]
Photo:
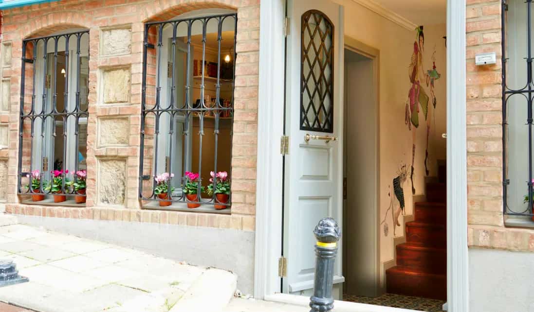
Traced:
[[130, 101], [130, 68], [104, 70], [104, 103], [125, 103]]

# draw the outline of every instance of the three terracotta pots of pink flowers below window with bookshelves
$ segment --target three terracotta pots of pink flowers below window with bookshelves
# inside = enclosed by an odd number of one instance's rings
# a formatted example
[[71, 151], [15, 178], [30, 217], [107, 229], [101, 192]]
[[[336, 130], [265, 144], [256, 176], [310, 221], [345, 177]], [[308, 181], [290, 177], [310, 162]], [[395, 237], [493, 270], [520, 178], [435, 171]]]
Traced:
[[[211, 184], [208, 185], [208, 190], [206, 193], [209, 196], [215, 194], [215, 209], [226, 209], [229, 207], [229, 205], [224, 204], [227, 204], [230, 198], [230, 179], [228, 178], [228, 173], [226, 171], [217, 173], [211, 171], [210, 175], [211, 179], [209, 179], [209, 181]], [[164, 172], [154, 177], [156, 182], [154, 193], [160, 199], [168, 198], [169, 190], [171, 194], [172, 191], [174, 191], [174, 187], [169, 187], [169, 182], [172, 178], [174, 178], [174, 174], [168, 172]], [[194, 209], [200, 207], [200, 203], [195, 202], [200, 202], [200, 196], [198, 194], [199, 192], [203, 193], [205, 188], [200, 185], [199, 174], [186, 171], [185, 183], [182, 185], [182, 189], [188, 201], [187, 208]], [[171, 204], [171, 201], [160, 201], [160, 207], [170, 206]]]

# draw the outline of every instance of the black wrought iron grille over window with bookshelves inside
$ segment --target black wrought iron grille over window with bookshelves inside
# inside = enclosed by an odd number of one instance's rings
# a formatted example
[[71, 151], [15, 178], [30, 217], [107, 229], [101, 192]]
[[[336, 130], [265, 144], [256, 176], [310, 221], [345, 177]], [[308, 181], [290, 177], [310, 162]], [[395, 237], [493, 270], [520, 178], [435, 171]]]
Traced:
[[[199, 28], [201, 31], [197, 34]], [[210, 31], [214, 28], [215, 31]], [[166, 31], [170, 35], [165, 35]], [[223, 33], [228, 34], [229, 31], [233, 31], [230, 49], [223, 47]], [[209, 36], [214, 33], [215, 39]], [[193, 42], [192, 37], [199, 35], [201, 35], [200, 41]], [[227, 203], [219, 202], [216, 194], [209, 198], [202, 196], [202, 188], [206, 186], [203, 183], [205, 179], [202, 179], [202, 138], [209, 134], [206, 131], [207, 121], [213, 121], [213, 171], [217, 172], [219, 136], [222, 133], [223, 121], [230, 122], [230, 142], [233, 135], [236, 36], [237, 13], [145, 23], [139, 166], [139, 198], [142, 201], [187, 202], [226, 207], [231, 205], [231, 194]], [[215, 40], [217, 46], [215, 48], [216, 60], [211, 63], [206, 55], [209, 49], [207, 46], [209, 39]], [[227, 37], [227, 39], [230, 38]], [[194, 60], [194, 46], [201, 49], [199, 60]], [[180, 47], [183, 49], [185, 61], [183, 68], [177, 69], [179, 66], [177, 51]], [[231, 57], [228, 57], [230, 54], [226, 55], [227, 53], [231, 53]], [[216, 69], [213, 67], [214, 63], [216, 63]], [[152, 75], [149, 74], [151, 66]], [[216, 75], [213, 75], [215, 71]], [[180, 86], [178, 79], [184, 74], [184, 81]], [[153, 85], [149, 82], [151, 79]], [[195, 84], [195, 79], [200, 82]], [[208, 101], [206, 97], [208, 82], [214, 82], [215, 87], [215, 98], [211, 101]], [[231, 83], [229, 99], [223, 99], [221, 95], [223, 82]], [[193, 97], [194, 87], [197, 90], [200, 89], [198, 99]], [[181, 99], [176, 95], [180, 90], [184, 92]], [[175, 120], [178, 120], [181, 126], [178, 126]], [[198, 127], [197, 138], [194, 138], [193, 125]], [[198, 140], [198, 167], [194, 168], [192, 162], [195, 160], [191, 159], [192, 154], [195, 153], [191, 143], [193, 138]], [[231, 151], [231, 143], [222, 148]], [[199, 174], [198, 197], [194, 200], [187, 199], [183, 190], [187, 182], [185, 174], [187, 171], [195, 171]], [[155, 178], [165, 172], [169, 175], [176, 173], [176, 177], [169, 176], [167, 193], [158, 196], [155, 191], [157, 184]], [[213, 188], [216, 189], [216, 187], [217, 180], [213, 179]], [[169, 206], [167, 209], [173, 209], [173, 207]]]

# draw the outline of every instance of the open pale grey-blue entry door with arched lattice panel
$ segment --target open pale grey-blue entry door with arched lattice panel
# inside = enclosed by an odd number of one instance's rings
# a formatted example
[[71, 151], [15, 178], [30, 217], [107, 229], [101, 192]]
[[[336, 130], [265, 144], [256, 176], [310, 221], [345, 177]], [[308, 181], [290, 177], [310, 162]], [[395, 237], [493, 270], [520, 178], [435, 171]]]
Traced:
[[[313, 228], [325, 217], [342, 224], [343, 11], [328, 0], [288, 0], [287, 16], [282, 291], [308, 295]], [[339, 244], [334, 283], [343, 281], [341, 256]]]

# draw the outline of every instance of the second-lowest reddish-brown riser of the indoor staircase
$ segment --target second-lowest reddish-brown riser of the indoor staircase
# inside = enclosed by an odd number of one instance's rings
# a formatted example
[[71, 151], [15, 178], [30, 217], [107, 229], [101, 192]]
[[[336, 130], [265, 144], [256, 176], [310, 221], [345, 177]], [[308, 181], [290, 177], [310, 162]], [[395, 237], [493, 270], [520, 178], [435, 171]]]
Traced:
[[445, 274], [447, 272], [445, 250], [413, 250], [397, 245], [397, 266], [415, 272]]

